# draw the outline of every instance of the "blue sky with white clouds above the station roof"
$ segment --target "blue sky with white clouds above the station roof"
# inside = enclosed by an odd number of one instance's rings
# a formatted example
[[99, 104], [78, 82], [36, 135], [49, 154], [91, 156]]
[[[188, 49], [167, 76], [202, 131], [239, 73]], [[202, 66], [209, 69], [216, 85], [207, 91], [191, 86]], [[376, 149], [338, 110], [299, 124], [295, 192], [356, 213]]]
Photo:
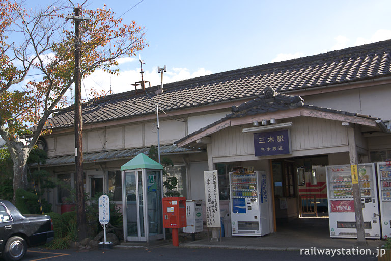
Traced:
[[[158, 66], [166, 65], [165, 84], [391, 39], [389, 0], [87, 0], [83, 7], [105, 2], [123, 23], [145, 27], [149, 45], [139, 55], [152, 86], [160, 85]], [[118, 67], [119, 76], [96, 71], [84, 79], [83, 98], [91, 88], [134, 89], [130, 84], [141, 81], [138, 55]]]

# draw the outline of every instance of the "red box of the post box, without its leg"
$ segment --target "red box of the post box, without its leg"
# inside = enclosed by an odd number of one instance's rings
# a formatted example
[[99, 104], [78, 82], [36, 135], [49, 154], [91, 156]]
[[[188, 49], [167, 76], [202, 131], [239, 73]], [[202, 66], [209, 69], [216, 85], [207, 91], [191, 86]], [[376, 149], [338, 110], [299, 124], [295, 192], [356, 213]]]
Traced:
[[186, 224], [186, 198], [163, 198], [163, 227], [179, 228]]

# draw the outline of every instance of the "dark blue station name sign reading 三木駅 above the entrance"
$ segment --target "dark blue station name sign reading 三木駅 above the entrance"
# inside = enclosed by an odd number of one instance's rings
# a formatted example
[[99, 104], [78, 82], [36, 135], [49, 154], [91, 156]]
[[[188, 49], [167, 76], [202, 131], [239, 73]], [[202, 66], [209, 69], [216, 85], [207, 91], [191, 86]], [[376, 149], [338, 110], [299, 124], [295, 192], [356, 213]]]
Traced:
[[272, 156], [291, 154], [290, 130], [255, 133], [254, 154], [255, 156]]

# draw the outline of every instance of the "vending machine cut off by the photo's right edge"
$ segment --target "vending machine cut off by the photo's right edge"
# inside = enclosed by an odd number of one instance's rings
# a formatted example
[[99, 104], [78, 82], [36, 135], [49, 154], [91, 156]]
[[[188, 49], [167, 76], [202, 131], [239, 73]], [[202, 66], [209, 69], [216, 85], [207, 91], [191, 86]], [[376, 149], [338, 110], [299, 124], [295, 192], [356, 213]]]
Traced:
[[391, 237], [391, 166], [377, 163], [382, 237]]

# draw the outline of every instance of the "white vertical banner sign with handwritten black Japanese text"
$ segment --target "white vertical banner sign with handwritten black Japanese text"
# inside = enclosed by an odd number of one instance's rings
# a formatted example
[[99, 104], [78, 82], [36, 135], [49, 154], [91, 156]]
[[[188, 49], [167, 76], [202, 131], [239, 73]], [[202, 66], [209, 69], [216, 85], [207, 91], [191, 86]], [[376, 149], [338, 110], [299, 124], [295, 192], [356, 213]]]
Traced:
[[218, 196], [217, 170], [204, 171], [206, 225], [220, 227], [220, 198]]

